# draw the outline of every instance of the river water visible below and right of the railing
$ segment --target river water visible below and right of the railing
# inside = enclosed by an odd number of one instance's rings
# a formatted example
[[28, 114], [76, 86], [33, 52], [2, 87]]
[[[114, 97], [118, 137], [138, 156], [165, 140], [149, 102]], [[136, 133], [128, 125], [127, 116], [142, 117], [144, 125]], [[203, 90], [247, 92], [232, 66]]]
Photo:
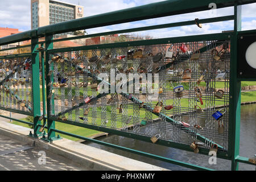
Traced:
[[[253, 158], [256, 154], [256, 105], [243, 105], [241, 106], [241, 135], [240, 135], [240, 155]], [[117, 135], [109, 135], [109, 137], [99, 138], [104, 142], [117, 144], [119, 146], [133, 148], [139, 151], [148, 152], [155, 155], [160, 155], [166, 158], [180, 160], [190, 164], [196, 164], [198, 166], [212, 168], [216, 170], [230, 170], [231, 162], [229, 160], [217, 159], [217, 165], [210, 165], [208, 163], [209, 156], [194, 154], [193, 152], [178, 150], [176, 148], [169, 148], [159, 146], [152, 143], [142, 142], [140, 140], [130, 139], [126, 137], [120, 137]], [[188, 168], [176, 166], [174, 164], [162, 162], [155, 159], [146, 158], [129, 152], [120, 151], [114, 148], [101, 146], [95, 143], [86, 143], [89, 146], [101, 148], [109, 152], [113, 152], [118, 155], [126, 156], [127, 158], [139, 160], [141, 162], [154, 164], [155, 166], [171, 169], [171, 170], [191, 170]], [[240, 170], [255, 170], [254, 166], [249, 164], [239, 165]]]

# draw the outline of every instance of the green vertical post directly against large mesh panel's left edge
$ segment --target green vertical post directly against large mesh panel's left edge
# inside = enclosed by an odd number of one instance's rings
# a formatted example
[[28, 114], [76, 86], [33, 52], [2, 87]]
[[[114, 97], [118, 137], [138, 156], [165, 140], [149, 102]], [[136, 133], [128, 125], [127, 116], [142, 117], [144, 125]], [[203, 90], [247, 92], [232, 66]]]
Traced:
[[[50, 82], [53, 81], [53, 78], [48, 76], [49, 73], [49, 53], [48, 50], [49, 49], [53, 49], [53, 36], [52, 35], [46, 35], [46, 85], [48, 85]], [[49, 88], [49, 86], [46, 87], [46, 95], [49, 96], [49, 94], [51, 93], [51, 90]], [[52, 131], [51, 129], [55, 129], [55, 121], [51, 121], [51, 119], [49, 119], [49, 116], [51, 115], [51, 110], [50, 110], [50, 102], [51, 100], [49, 100], [47, 98], [47, 133], [48, 133], [48, 140], [52, 140], [53, 138], [55, 138], [55, 132]]]

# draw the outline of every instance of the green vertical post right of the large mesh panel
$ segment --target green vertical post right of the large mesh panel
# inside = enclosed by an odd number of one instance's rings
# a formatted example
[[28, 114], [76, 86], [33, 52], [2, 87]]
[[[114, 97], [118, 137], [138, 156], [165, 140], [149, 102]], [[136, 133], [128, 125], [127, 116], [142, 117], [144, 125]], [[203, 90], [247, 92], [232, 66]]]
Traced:
[[239, 156], [240, 149], [241, 81], [237, 79], [237, 40], [238, 31], [241, 31], [242, 26], [241, 9], [241, 6], [234, 6], [234, 34], [231, 40], [229, 151], [232, 171], [238, 170], [236, 158]]

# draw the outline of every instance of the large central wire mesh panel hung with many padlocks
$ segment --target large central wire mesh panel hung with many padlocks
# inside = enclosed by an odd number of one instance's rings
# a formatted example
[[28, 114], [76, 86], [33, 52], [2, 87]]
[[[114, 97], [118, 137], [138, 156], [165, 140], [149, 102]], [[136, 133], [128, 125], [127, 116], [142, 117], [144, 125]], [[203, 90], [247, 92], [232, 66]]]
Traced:
[[[228, 150], [228, 41], [49, 56], [52, 117], [122, 129], [151, 137], [153, 143], [162, 139], [204, 148], [218, 144]], [[108, 93], [100, 93], [102, 80]]]

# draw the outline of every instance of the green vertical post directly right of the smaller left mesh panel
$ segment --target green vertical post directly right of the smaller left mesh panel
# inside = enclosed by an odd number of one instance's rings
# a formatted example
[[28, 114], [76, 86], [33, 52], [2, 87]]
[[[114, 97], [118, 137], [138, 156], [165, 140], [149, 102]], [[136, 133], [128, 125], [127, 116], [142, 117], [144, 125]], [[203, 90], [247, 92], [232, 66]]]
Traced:
[[32, 103], [33, 103], [33, 118], [34, 118], [34, 137], [38, 137], [41, 114], [40, 109], [40, 78], [39, 78], [39, 51], [38, 38], [31, 39], [31, 60], [32, 60]]

